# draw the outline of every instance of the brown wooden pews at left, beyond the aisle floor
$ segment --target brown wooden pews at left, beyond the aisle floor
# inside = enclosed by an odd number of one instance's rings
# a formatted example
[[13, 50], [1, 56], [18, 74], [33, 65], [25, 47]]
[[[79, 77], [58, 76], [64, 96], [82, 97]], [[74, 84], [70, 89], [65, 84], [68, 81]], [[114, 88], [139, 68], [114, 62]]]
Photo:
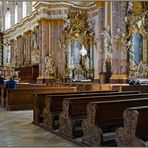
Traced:
[[6, 89], [0, 86], [0, 105], [6, 110], [33, 109], [35, 93], [76, 92], [76, 87], [47, 87], [46, 85], [20, 84], [16, 89]]

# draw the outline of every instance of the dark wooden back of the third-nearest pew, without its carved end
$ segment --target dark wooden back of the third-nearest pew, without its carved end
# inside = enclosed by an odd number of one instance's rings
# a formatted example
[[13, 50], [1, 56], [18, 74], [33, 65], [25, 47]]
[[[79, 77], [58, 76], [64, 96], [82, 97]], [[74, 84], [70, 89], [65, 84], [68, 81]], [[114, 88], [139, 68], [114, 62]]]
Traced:
[[116, 94], [116, 95], [102, 95], [102, 96], [91, 96], [91, 97], [81, 97], [81, 98], [67, 98], [63, 102], [63, 108], [65, 103], [69, 105], [70, 116], [86, 116], [86, 106], [90, 102], [94, 101], [109, 101], [109, 100], [121, 100], [121, 99], [131, 99], [131, 98], [147, 98], [148, 93], [143, 94]]

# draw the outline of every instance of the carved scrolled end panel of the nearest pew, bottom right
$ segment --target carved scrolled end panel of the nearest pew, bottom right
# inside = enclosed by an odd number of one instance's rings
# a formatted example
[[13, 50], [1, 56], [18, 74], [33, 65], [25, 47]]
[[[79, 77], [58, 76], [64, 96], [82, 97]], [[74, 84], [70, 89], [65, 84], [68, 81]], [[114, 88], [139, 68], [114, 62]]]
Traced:
[[136, 127], [139, 113], [130, 108], [123, 113], [124, 127], [115, 132], [115, 140], [120, 147], [144, 147], [144, 142], [136, 136]]

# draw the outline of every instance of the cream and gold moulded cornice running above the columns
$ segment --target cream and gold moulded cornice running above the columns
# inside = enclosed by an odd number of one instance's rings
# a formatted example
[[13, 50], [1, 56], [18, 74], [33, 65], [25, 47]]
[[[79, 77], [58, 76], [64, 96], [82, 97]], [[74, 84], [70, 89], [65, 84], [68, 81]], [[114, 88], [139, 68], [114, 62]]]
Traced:
[[[71, 7], [77, 7], [82, 9], [95, 9], [96, 2], [85, 2], [85, 5], [79, 5], [75, 2], [36, 2], [34, 4], [34, 10], [30, 16], [22, 19], [21, 22], [15, 24], [12, 28], [4, 32], [4, 38], [9, 40], [16, 39], [17, 36], [23, 35], [28, 30], [34, 30], [38, 26], [38, 21], [42, 18], [54, 20], [63, 19], [67, 17], [67, 10]], [[60, 10], [60, 11], [58, 11]], [[65, 11], [66, 10], [66, 11]], [[53, 13], [55, 11], [55, 13]], [[59, 13], [60, 12], [60, 13]]]

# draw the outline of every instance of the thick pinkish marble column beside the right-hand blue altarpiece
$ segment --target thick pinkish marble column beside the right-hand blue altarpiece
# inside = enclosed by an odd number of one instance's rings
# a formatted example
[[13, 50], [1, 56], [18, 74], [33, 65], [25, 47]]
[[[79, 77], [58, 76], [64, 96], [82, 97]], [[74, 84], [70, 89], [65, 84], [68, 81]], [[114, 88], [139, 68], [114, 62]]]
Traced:
[[[111, 82], [125, 83], [128, 79], [128, 60], [127, 47], [124, 44], [124, 38], [121, 34], [126, 34], [126, 6], [127, 2], [112, 2], [112, 63], [111, 63]], [[117, 39], [117, 29], [120, 29], [121, 34]]]

